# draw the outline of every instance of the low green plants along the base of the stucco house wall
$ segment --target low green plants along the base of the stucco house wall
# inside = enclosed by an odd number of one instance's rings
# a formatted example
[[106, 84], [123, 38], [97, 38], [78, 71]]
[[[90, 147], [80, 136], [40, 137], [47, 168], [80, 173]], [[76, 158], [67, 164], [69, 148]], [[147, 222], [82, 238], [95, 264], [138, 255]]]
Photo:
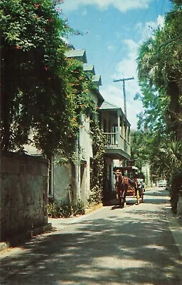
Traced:
[[65, 202], [49, 202], [48, 203], [48, 216], [52, 218], [68, 218], [77, 214], [85, 214], [85, 209], [80, 199], [77, 204], [70, 204]]

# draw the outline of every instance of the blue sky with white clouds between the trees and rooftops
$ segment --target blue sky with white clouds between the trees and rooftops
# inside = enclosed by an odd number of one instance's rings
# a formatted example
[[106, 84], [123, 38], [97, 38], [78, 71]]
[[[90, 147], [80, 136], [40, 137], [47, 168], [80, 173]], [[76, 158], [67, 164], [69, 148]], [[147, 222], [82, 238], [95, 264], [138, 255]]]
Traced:
[[125, 81], [127, 118], [131, 128], [137, 128], [137, 114], [143, 108], [134, 101], [138, 92], [137, 51], [154, 28], [163, 24], [164, 14], [172, 9], [169, 0], [64, 0], [63, 16], [82, 36], [72, 36], [69, 42], [76, 49], [84, 48], [87, 62], [94, 64], [102, 77], [100, 93], [105, 100], [124, 110], [122, 83], [113, 79], [134, 76]]

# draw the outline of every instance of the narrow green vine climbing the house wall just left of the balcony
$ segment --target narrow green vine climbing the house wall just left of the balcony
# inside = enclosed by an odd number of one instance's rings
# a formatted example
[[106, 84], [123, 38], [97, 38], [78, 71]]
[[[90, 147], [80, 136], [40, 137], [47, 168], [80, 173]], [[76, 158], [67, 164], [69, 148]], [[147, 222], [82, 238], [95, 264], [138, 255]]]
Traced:
[[91, 185], [90, 190], [92, 194], [88, 198], [89, 204], [99, 204], [102, 202], [103, 192], [103, 179], [104, 179], [104, 154], [105, 154], [105, 135], [99, 128], [99, 125], [92, 120], [92, 147], [93, 147], [93, 159], [90, 163], [90, 177]]

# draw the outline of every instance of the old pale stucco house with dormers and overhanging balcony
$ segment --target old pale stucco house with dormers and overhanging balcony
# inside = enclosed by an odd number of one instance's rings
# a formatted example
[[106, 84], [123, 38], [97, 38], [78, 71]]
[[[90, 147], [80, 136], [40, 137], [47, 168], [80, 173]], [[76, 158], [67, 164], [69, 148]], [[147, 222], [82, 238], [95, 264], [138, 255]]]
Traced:
[[[125, 163], [130, 157], [130, 124], [122, 109], [104, 102], [99, 86], [101, 76], [95, 74], [95, 66], [87, 63], [84, 49], [75, 50], [70, 46], [66, 53], [68, 58], [82, 63], [83, 71], [95, 84], [96, 88], [87, 91], [95, 106], [99, 109], [94, 120], [100, 122], [100, 129], [106, 135], [105, 140], [105, 193], [113, 192], [114, 177], [112, 168]], [[92, 118], [93, 119], [93, 118]], [[48, 197], [65, 203], [76, 203], [80, 199], [84, 206], [90, 197], [90, 162], [92, 152], [92, 132], [90, 132], [90, 116], [82, 115], [82, 128], [75, 142], [75, 162], [65, 162], [63, 157], [50, 157]], [[28, 145], [26, 151], [32, 155], [41, 155], [35, 148]]]

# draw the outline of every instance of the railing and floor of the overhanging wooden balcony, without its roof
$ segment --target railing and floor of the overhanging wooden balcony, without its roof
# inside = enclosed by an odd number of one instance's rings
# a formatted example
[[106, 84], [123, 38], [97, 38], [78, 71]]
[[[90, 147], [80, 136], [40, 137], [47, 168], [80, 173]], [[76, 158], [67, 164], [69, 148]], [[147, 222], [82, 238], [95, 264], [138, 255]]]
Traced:
[[131, 155], [130, 143], [122, 137], [122, 133], [104, 133], [106, 155], [113, 159], [122, 157], [129, 159]]

